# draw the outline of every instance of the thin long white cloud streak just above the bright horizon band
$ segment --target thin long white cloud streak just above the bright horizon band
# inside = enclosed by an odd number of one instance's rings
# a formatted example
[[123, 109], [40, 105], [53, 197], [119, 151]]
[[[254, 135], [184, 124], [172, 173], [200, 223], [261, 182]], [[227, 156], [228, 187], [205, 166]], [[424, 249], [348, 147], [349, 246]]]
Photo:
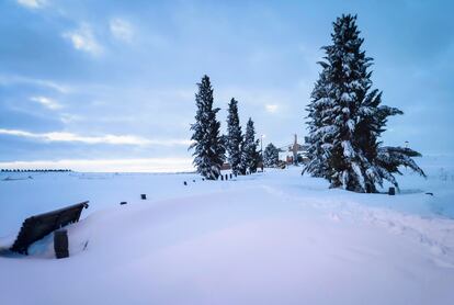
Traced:
[[31, 133], [18, 129], [0, 128], [0, 135], [10, 135], [33, 138], [44, 142], [76, 142], [84, 144], [111, 144], [111, 145], [159, 145], [159, 146], [189, 146], [190, 140], [184, 139], [148, 139], [134, 135], [103, 135], [103, 136], [82, 136], [73, 133], [53, 132], [53, 133]]

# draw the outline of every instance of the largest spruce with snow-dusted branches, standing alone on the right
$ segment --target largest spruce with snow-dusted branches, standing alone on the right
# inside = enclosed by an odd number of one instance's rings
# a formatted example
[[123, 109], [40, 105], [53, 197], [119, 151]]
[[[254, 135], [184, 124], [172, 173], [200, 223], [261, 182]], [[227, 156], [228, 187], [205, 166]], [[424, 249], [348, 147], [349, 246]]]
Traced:
[[325, 46], [322, 71], [307, 108], [309, 158], [305, 171], [324, 177], [331, 188], [376, 192], [393, 173], [406, 166], [424, 176], [411, 157], [419, 152], [401, 147], [381, 147], [387, 117], [402, 112], [381, 105], [382, 92], [371, 90], [373, 59], [361, 49], [356, 16], [342, 15], [333, 23], [332, 45]]

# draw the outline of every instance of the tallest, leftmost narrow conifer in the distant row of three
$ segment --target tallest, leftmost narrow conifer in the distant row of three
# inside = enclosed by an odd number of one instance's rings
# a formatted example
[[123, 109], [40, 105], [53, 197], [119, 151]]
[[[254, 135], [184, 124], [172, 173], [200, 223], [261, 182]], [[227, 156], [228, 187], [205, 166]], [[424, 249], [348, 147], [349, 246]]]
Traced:
[[225, 148], [219, 135], [220, 123], [216, 120], [218, 108], [213, 109], [213, 88], [209, 78], [205, 75], [197, 83], [195, 94], [197, 112], [195, 123], [191, 125], [194, 134], [191, 137], [194, 148], [193, 165], [200, 174], [209, 180], [216, 180], [220, 174], [220, 167], [225, 159]]

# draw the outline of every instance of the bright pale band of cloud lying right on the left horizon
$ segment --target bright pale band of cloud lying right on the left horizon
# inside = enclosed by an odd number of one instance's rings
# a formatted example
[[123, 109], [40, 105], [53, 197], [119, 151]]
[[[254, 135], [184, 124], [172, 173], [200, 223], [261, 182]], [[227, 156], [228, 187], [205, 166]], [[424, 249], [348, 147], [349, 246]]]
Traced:
[[0, 162], [5, 169], [72, 169], [84, 172], [178, 172], [193, 171], [190, 158], [72, 159]]

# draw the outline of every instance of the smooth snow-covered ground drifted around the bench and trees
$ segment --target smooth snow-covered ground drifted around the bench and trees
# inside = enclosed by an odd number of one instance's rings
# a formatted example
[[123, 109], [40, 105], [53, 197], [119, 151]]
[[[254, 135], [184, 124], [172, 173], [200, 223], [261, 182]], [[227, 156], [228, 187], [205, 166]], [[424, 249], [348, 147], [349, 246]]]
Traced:
[[0, 304], [453, 304], [454, 163], [420, 163], [428, 179], [399, 178], [396, 196], [328, 190], [300, 168], [1, 173], [0, 245], [30, 215], [90, 207], [69, 259], [52, 236], [0, 257]]

